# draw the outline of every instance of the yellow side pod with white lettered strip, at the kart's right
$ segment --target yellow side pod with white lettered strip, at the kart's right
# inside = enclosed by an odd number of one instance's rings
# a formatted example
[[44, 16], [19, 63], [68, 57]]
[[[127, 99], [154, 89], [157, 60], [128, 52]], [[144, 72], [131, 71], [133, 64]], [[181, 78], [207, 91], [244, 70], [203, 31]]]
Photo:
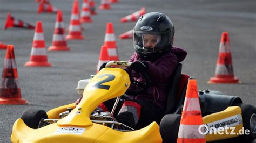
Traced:
[[[205, 127], [208, 128], [209, 131], [205, 135], [206, 141], [215, 141], [237, 137], [239, 135], [239, 130], [242, 129], [241, 108], [239, 106], [228, 107], [224, 111], [213, 113], [211, 115], [203, 117], [203, 122], [205, 124]], [[220, 129], [220, 127], [222, 128]], [[225, 130], [225, 127], [231, 128]], [[206, 128], [204, 128], [204, 131], [206, 131]], [[213, 128], [219, 131], [214, 131]], [[232, 128], [234, 128], [233, 131]]]

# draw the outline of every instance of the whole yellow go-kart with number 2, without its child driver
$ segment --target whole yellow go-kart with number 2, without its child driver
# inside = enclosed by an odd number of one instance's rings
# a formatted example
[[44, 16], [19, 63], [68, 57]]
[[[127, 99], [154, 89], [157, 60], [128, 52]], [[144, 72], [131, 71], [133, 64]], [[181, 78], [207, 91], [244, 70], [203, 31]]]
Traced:
[[[131, 62], [110, 61], [90, 80], [78, 82], [78, 92], [83, 92], [82, 101], [60, 106], [47, 113], [43, 110], [30, 109], [16, 120], [12, 128], [12, 142], [176, 142], [178, 137], [181, 111], [185, 99], [186, 84], [189, 76], [181, 74], [181, 64], [170, 77], [168, 83], [166, 115], [160, 123], [156, 122], [134, 130], [116, 121], [113, 116], [120, 96], [136, 84], [141, 89], [147, 88], [150, 79], [146, 73], [140, 73], [144, 82], [132, 80], [122, 68]], [[109, 68], [111, 66], [119, 68]], [[86, 86], [81, 88], [80, 86]], [[116, 98], [111, 112], [97, 110], [97, 106], [109, 99]], [[199, 100], [203, 122], [209, 127], [235, 127], [238, 133], [242, 127], [249, 130], [248, 135], [210, 134], [206, 141], [228, 140], [231, 142], [251, 142], [256, 137], [256, 109], [243, 104], [237, 96], [223, 95], [218, 91], [199, 91]]]

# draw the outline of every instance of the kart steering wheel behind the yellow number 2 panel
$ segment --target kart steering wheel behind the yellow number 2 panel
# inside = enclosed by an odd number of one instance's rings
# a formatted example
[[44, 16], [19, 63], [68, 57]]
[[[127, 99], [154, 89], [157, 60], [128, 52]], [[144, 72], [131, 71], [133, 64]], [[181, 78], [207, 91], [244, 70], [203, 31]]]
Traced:
[[[126, 67], [130, 67], [131, 64], [132, 64], [132, 62], [127, 62], [127, 61], [110, 61], [110, 62], [107, 62], [105, 67], [106, 68], [117, 67], [117, 68], [125, 69]], [[131, 69], [131, 70], [133, 70], [133, 69]], [[141, 74], [142, 77], [144, 78], [144, 82], [138, 82], [130, 77], [131, 84], [137, 85], [139, 87], [139, 89], [137, 89], [137, 90], [128, 89], [128, 90], [126, 90], [125, 94], [138, 95], [142, 91], [146, 90], [149, 87], [149, 83], [150, 83], [149, 75], [147, 75], [146, 72], [141, 72], [139, 74]]]

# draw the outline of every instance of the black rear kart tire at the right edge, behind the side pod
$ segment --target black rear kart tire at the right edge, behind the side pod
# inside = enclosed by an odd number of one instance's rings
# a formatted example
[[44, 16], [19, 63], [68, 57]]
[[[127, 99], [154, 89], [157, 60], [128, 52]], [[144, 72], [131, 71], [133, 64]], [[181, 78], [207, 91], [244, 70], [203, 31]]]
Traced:
[[[256, 131], [252, 131], [250, 127], [251, 117], [256, 116], [256, 108], [250, 104], [237, 104], [242, 109], [242, 124], [244, 126], [244, 131], [249, 130], [250, 134], [239, 135], [238, 137], [226, 139], [228, 142], [252, 142], [256, 138]], [[254, 125], [255, 127], [255, 125]]]

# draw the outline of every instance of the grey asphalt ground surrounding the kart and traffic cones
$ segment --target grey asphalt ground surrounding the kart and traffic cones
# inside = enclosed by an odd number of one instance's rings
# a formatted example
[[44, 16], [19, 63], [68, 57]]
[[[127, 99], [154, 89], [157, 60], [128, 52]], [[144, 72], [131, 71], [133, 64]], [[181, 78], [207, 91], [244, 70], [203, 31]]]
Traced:
[[[183, 73], [196, 77], [199, 89], [218, 90], [226, 95], [239, 96], [244, 103], [256, 105], [256, 1], [247, 0], [120, 0], [112, 10], [99, 10], [93, 23], [83, 24], [85, 40], [68, 41], [69, 52], [48, 52], [52, 67], [23, 67], [29, 61], [33, 30], [9, 28], [3, 30], [8, 12], [33, 25], [43, 23], [46, 48], [51, 46], [56, 15], [37, 13], [35, 1], [0, 0], [0, 41], [15, 46], [16, 64], [22, 97], [26, 105], [0, 105], [0, 142], [10, 142], [12, 125], [26, 109], [48, 111], [60, 105], [75, 102], [77, 82], [96, 73], [100, 46], [104, 43], [107, 22], [113, 22], [120, 60], [129, 59], [134, 52], [133, 42], [120, 40], [118, 35], [129, 31], [135, 23], [120, 23], [120, 18], [145, 6], [147, 12], [162, 12], [170, 16], [176, 28], [174, 45], [183, 47], [187, 58]], [[65, 26], [69, 25], [72, 1], [52, 0], [62, 9]], [[82, 1], [80, 1], [82, 6]], [[81, 9], [81, 8], [80, 8]], [[241, 84], [207, 84], [214, 76], [221, 33], [230, 34], [234, 75]], [[4, 65], [5, 50], [0, 50], [0, 67]]]

